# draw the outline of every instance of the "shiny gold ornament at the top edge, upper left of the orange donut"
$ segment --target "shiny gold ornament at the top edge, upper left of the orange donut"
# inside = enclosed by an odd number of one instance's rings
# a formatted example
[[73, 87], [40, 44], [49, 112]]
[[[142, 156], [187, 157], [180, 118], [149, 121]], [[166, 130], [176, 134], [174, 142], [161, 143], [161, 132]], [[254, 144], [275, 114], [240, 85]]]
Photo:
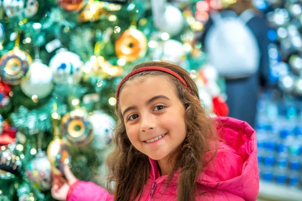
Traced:
[[109, 15], [105, 3], [95, 0], [89, 0], [83, 11], [79, 14], [79, 22], [94, 22]]

